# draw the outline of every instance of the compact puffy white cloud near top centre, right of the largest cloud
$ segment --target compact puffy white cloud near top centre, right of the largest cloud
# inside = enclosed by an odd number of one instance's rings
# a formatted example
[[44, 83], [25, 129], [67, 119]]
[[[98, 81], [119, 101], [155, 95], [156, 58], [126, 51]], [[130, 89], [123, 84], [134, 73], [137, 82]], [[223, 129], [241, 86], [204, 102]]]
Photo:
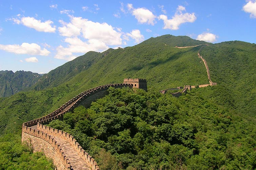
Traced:
[[141, 24], [147, 23], [155, 25], [156, 16], [147, 8], [133, 8], [132, 4], [127, 4], [129, 10], [131, 10], [132, 15], [135, 16], [137, 21]]

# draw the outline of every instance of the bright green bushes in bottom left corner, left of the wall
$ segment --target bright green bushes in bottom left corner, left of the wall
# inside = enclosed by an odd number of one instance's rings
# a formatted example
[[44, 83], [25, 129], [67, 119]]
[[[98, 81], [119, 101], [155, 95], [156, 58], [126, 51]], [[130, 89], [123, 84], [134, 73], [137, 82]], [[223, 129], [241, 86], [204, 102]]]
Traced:
[[54, 170], [53, 163], [42, 152], [33, 153], [28, 144], [21, 144], [19, 135], [0, 138], [0, 170]]

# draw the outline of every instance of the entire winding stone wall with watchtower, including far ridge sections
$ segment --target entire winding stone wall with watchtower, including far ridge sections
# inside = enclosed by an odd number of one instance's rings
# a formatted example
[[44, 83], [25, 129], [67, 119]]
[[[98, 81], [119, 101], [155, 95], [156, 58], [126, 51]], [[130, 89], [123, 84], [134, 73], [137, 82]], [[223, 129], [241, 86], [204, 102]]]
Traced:
[[[204, 46], [205, 45], [203, 45], [198, 51], [198, 57], [201, 58], [205, 64], [210, 84], [199, 85], [199, 87], [206, 87], [209, 85], [212, 86], [217, 84], [211, 81], [208, 65], [202, 56], [200, 56], [200, 51]], [[176, 48], [189, 47], [197, 46]], [[130, 87], [142, 88], [146, 90], [147, 84], [145, 79], [124, 79], [124, 82], [120, 84], [108, 84], [83, 91], [54, 112], [41, 118], [23, 123], [22, 141], [26, 141], [28, 144], [31, 144], [34, 151], [43, 151], [46, 157], [53, 160], [57, 170], [99, 170], [100, 168], [97, 162], [80, 146], [80, 144], [72, 135], [64, 131], [45, 126], [45, 124], [55, 119], [62, 120], [65, 113], [72, 111], [79, 105], [90, 106], [92, 101], [106, 95], [106, 90], [110, 87]], [[164, 94], [168, 90], [180, 90], [181, 88], [182, 87], [166, 89], [162, 90], [161, 93]], [[182, 93], [186, 93], [187, 90], [190, 90], [191, 88], [195, 88], [195, 86], [184, 86], [181, 92], [178, 91], [171, 94], [175, 97], [178, 97]]]

